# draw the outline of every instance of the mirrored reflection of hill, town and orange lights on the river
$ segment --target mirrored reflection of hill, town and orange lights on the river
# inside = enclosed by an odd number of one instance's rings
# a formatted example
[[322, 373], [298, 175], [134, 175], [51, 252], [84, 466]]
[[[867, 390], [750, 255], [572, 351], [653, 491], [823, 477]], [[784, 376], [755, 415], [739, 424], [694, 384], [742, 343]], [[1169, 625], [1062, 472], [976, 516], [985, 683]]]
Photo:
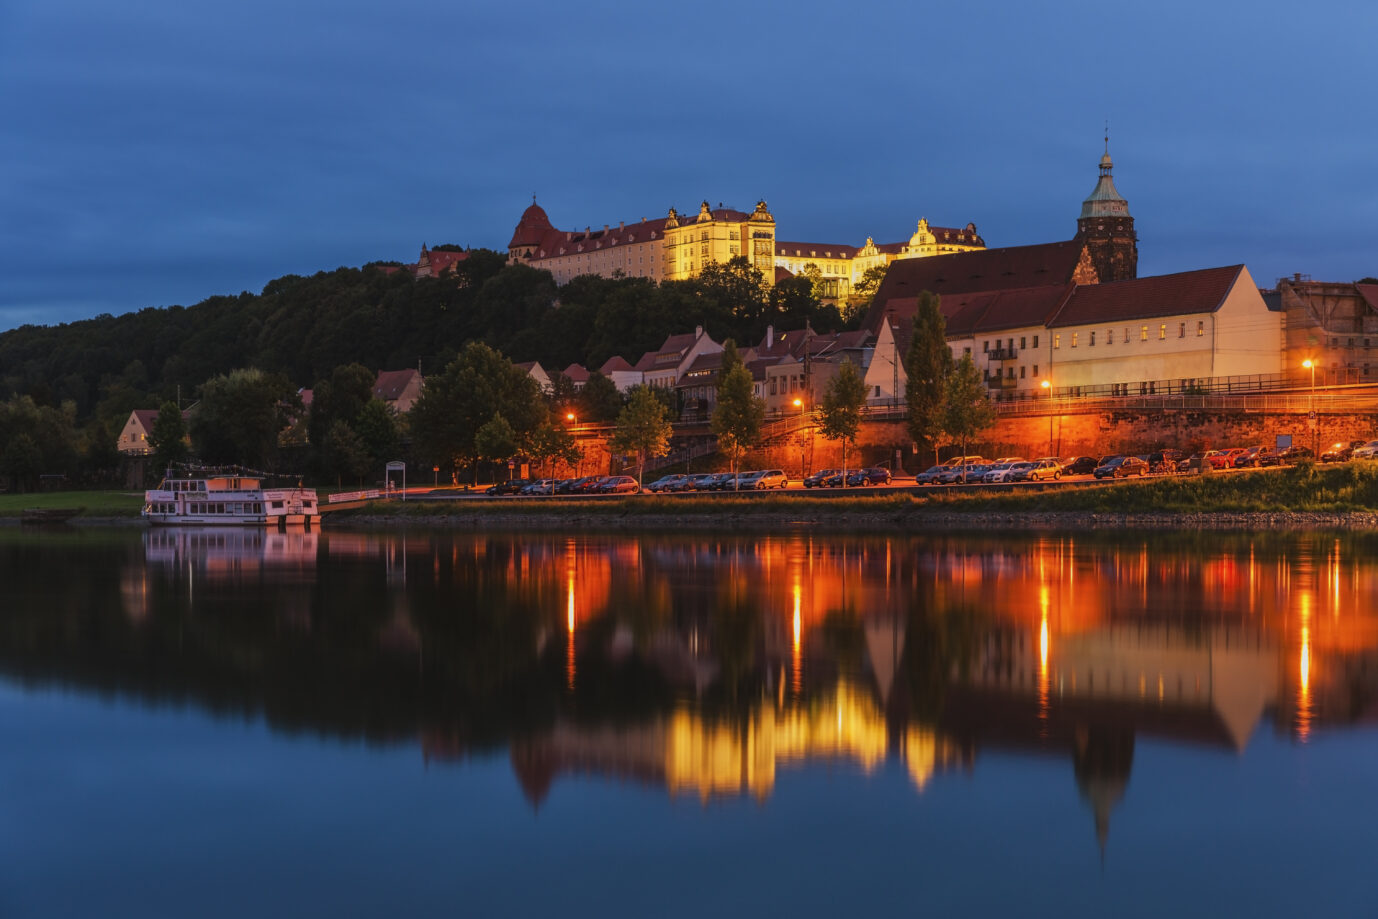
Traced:
[[765, 801], [808, 763], [900, 763], [921, 794], [983, 754], [1058, 756], [1104, 845], [1141, 739], [1237, 755], [1261, 723], [1306, 743], [1372, 718], [1370, 548], [6, 535], [0, 665], [434, 763], [506, 750], [536, 806], [568, 776]]

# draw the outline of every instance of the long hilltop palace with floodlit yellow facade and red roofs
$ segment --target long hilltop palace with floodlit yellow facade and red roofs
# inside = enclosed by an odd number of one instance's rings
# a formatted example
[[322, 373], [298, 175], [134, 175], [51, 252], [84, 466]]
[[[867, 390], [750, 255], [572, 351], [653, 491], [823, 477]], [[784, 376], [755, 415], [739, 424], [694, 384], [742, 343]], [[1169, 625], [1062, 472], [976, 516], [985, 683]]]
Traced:
[[766, 284], [817, 267], [825, 296], [834, 299], [846, 298], [868, 269], [896, 259], [984, 248], [974, 223], [952, 229], [930, 226], [926, 219], [919, 220], [907, 242], [876, 244], [871, 238], [860, 247], [781, 242], [765, 201], [757, 201], [750, 214], [721, 204], [714, 208], [704, 201], [692, 216], [670, 208], [655, 220], [642, 218], [616, 227], [605, 223], [601, 230], [593, 226], [583, 231], [558, 230], [532, 201], [513, 231], [507, 256], [513, 263], [550, 271], [559, 284], [580, 274], [678, 281], [741, 256], [761, 271]]

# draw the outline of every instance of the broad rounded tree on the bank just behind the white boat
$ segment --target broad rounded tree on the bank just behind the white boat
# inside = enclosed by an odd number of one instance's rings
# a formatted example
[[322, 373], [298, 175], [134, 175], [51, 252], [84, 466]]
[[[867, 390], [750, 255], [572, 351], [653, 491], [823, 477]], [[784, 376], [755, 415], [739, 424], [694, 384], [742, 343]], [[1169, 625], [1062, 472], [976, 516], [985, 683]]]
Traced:
[[192, 441], [208, 463], [267, 467], [278, 434], [302, 412], [302, 400], [281, 373], [238, 369], [201, 386], [192, 413]]

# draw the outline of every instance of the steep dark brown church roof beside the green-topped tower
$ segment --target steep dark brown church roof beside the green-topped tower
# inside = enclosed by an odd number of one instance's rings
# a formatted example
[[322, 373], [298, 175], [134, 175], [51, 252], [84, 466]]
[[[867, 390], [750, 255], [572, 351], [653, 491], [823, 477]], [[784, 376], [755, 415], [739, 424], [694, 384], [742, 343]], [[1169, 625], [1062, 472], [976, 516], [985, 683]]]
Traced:
[[1080, 240], [1068, 240], [898, 259], [890, 263], [861, 328], [875, 332], [892, 300], [912, 300], [923, 291], [943, 298], [949, 293], [1068, 284], [1080, 262], [1082, 249]]

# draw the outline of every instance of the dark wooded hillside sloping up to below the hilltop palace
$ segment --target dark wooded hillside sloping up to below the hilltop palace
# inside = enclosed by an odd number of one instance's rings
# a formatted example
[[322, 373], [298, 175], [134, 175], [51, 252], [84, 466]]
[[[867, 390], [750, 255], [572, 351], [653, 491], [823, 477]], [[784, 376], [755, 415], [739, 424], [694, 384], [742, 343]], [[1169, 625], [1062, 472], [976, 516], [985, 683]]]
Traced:
[[132, 409], [189, 405], [207, 382], [244, 368], [294, 387], [314, 387], [350, 364], [430, 375], [477, 340], [550, 371], [570, 362], [597, 369], [615, 354], [635, 362], [695, 325], [718, 340], [755, 342], [769, 324], [805, 321], [823, 332], [843, 324], [809, 278], [768, 285], [744, 259], [659, 285], [586, 276], [558, 287], [548, 271], [507, 265], [488, 249], [471, 249], [438, 278], [380, 265], [287, 276], [256, 295], [0, 333], [0, 402], [10, 416], [32, 420], [29, 431], [51, 409], [72, 431], [51, 457], [30, 433], [15, 468], [0, 473], [61, 466], [72, 475], [69, 460], [77, 457], [76, 474], [99, 478], [113, 451], [96, 448], [113, 441]]

